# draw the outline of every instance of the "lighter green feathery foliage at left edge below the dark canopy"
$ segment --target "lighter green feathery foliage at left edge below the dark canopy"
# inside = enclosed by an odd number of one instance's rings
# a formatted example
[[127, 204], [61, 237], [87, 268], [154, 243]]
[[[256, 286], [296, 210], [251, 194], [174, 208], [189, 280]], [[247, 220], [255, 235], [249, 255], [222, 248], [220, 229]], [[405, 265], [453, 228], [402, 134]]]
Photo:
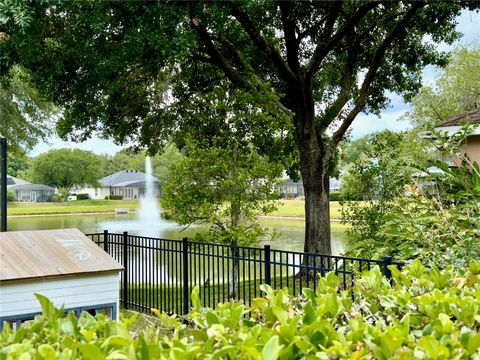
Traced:
[[40, 139], [47, 139], [51, 133], [49, 118], [55, 112], [31, 84], [24, 69], [14, 67], [9, 78], [0, 81], [0, 135], [7, 138], [14, 152], [29, 150]]

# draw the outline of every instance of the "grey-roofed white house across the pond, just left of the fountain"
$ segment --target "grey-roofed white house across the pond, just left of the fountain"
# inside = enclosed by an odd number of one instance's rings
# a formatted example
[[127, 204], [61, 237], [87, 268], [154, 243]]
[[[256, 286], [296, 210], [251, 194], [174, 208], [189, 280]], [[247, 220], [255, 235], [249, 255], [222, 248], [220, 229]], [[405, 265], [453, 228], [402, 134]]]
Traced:
[[[105, 199], [108, 196], [122, 196], [123, 199], [138, 199], [145, 193], [147, 175], [138, 170], [122, 170], [98, 180], [100, 187], [77, 189], [78, 194], [84, 193], [90, 199]], [[154, 186], [160, 195], [160, 184], [156, 177]]]

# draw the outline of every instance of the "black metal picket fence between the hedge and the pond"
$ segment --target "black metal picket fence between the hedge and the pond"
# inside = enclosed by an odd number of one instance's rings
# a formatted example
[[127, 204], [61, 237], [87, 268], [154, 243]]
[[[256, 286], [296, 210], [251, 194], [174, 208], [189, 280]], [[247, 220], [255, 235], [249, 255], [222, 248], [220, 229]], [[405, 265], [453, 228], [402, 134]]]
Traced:
[[[388, 265], [401, 266], [391, 257], [369, 260], [295, 251], [167, 240], [103, 233], [87, 234], [124, 267], [121, 274], [121, 303], [140, 311], [159, 309], [186, 314], [190, 293], [199, 286], [204, 306], [235, 299], [250, 305], [261, 295], [260, 284], [287, 287], [291, 294], [316, 289], [318, 280], [334, 271], [340, 288], [348, 289], [363, 271], [378, 265], [390, 278]], [[353, 295], [353, 293], [352, 293]]]

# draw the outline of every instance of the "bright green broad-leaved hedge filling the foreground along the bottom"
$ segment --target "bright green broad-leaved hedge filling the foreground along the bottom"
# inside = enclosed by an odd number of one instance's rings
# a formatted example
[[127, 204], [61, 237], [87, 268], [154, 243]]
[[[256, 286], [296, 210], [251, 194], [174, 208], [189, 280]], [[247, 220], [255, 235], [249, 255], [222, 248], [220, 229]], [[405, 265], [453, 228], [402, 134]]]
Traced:
[[203, 308], [195, 288], [187, 316], [154, 310], [159, 325], [135, 335], [128, 331], [135, 317], [60, 318], [63, 311], [38, 296], [43, 315], [16, 333], [6, 326], [0, 358], [478, 359], [480, 263], [463, 273], [427, 270], [418, 261], [391, 270], [395, 285], [378, 267], [364, 272], [355, 301], [349, 291], [338, 292], [333, 273], [297, 298], [262, 285], [266, 298], [251, 308], [238, 302]]

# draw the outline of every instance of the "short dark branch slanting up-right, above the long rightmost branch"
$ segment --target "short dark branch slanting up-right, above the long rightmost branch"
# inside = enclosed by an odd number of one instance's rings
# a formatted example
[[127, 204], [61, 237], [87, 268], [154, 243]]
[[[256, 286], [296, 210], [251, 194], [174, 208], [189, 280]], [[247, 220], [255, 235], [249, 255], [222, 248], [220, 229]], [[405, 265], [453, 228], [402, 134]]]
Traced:
[[[323, 59], [328, 55], [328, 53], [337, 45], [342, 38], [344, 38], [348, 32], [350, 32], [355, 25], [374, 7], [378, 5], [377, 2], [369, 2], [366, 5], [362, 6], [356, 13], [354, 13], [350, 19], [346, 21], [346, 23], [333, 35], [330, 37], [330, 40], [326, 44], [318, 44], [315, 48], [315, 51], [310, 59], [306, 71], [305, 71], [305, 78], [309, 79], [313, 76], [313, 74], [320, 68], [320, 64], [322, 63]], [[332, 18], [333, 19], [333, 18]], [[336, 17], [335, 19], [336, 20]], [[334, 25], [331, 22], [330, 25], [327, 27], [332, 27]], [[323, 46], [322, 46], [323, 45]]]

